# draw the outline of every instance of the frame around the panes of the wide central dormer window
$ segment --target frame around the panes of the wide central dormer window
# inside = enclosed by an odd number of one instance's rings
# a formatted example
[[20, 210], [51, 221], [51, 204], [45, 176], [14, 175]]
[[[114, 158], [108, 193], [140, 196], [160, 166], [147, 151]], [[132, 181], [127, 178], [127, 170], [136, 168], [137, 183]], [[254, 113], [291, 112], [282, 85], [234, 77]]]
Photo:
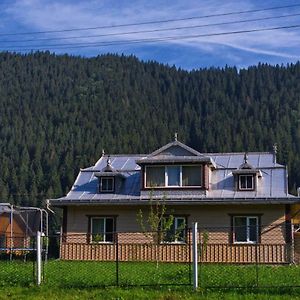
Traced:
[[[147, 186], [147, 168], [164, 167], [165, 168], [165, 185], [164, 186]], [[179, 185], [168, 185], [168, 167], [179, 167]], [[182, 185], [182, 167], [199, 167], [201, 174], [201, 185]], [[201, 188], [203, 187], [203, 166], [202, 165], [162, 165], [146, 166], [144, 174], [145, 188]]]

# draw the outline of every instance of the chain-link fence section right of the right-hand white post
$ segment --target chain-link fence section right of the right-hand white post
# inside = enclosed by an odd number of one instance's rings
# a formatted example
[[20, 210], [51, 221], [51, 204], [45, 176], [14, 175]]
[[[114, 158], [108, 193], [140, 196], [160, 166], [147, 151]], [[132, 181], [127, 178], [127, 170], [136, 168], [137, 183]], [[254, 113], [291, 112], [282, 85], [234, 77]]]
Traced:
[[254, 218], [237, 217], [230, 227], [200, 227], [199, 286], [300, 287], [295, 251], [286, 224], [263, 226]]

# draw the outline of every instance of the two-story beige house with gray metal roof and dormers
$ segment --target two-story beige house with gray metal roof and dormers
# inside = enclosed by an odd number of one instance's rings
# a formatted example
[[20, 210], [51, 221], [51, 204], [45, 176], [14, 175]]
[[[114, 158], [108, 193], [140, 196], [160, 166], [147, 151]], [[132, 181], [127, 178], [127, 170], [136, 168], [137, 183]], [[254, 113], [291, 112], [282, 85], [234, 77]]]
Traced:
[[[65, 245], [84, 244], [86, 253], [90, 245], [113, 245], [115, 232], [126, 243], [146, 243], [137, 214], [160, 201], [173, 216], [168, 243], [185, 244], [185, 229], [198, 222], [199, 239], [205, 232], [213, 245], [206, 261], [252, 262], [260, 247], [261, 262], [284, 263], [292, 260], [290, 210], [299, 202], [287, 180], [275, 153], [199, 153], [175, 138], [149, 155], [103, 154], [50, 203], [63, 208]], [[78, 255], [61, 254], [93, 259]]]

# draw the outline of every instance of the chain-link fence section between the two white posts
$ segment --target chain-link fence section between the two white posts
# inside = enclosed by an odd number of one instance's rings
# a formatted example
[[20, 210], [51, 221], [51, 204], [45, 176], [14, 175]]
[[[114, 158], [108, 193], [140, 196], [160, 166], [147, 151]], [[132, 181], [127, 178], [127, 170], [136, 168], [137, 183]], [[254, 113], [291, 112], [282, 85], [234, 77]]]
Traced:
[[160, 232], [49, 236], [44, 282], [72, 287], [191, 284], [191, 234]]

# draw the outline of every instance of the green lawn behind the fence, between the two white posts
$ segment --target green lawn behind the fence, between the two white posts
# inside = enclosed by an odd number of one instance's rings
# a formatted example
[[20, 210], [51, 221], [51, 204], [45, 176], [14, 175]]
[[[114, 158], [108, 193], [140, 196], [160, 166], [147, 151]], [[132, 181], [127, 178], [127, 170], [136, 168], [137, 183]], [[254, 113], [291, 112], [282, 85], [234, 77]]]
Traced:
[[45, 268], [46, 284], [61, 287], [188, 285], [190, 274], [189, 264], [153, 262], [50, 261]]

